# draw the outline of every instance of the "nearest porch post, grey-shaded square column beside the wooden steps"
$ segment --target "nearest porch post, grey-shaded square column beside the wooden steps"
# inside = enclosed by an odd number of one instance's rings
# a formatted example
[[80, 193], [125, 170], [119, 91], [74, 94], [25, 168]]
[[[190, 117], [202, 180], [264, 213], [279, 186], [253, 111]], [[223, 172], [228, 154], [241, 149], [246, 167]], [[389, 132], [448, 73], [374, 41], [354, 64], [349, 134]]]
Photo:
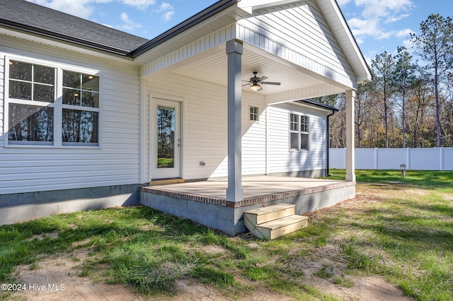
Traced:
[[242, 201], [242, 42], [226, 42], [228, 55], [228, 187], [226, 201]]

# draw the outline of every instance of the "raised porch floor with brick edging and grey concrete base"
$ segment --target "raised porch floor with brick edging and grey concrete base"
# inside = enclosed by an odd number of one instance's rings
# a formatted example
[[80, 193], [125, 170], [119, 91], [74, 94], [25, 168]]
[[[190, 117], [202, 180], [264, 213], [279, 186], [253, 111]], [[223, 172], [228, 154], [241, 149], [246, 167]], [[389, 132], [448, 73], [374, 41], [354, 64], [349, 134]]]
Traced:
[[296, 206], [296, 214], [316, 211], [355, 196], [355, 183], [302, 177], [242, 178], [243, 200], [226, 199], [227, 179], [142, 187], [140, 203], [210, 228], [236, 235], [247, 229], [243, 212], [278, 203]]

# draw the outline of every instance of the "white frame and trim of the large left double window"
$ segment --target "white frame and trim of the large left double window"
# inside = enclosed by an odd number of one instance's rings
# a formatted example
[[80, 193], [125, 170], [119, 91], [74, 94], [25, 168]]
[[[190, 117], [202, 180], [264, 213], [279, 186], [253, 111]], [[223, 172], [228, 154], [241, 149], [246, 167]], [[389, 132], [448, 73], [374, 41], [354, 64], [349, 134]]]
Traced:
[[[47, 66], [56, 69], [56, 78], [55, 78], [55, 100], [54, 102], [34, 102], [31, 100], [16, 100], [9, 98], [9, 61], [21, 61], [27, 64], [35, 64], [41, 66]], [[64, 105], [62, 103], [63, 96], [63, 70], [65, 71], [74, 71], [78, 73], [93, 74], [99, 78], [99, 97], [98, 97], [98, 107], [79, 107], [74, 105]], [[4, 67], [4, 147], [6, 148], [101, 148], [101, 112], [102, 112], [102, 76], [99, 70], [88, 69], [84, 67], [69, 65], [69, 64], [58, 64], [54, 61], [47, 61], [43, 59], [34, 59], [30, 57], [22, 57], [17, 55], [8, 55], [5, 57], [5, 67]], [[41, 107], [53, 107], [54, 109], [54, 123], [53, 123], [53, 141], [51, 142], [41, 142], [41, 141], [15, 141], [10, 143], [8, 137], [9, 131], [9, 104], [23, 104], [23, 105], [33, 105]], [[98, 112], [98, 143], [70, 143], [63, 142], [62, 138], [62, 122], [63, 122], [63, 109], [75, 109], [90, 112]]]

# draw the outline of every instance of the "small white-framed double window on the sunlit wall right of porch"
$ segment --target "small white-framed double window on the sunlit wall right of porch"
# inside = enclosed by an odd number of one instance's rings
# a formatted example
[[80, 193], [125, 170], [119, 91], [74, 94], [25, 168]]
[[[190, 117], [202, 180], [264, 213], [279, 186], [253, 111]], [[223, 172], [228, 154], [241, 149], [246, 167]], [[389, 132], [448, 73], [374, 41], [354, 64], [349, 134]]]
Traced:
[[289, 114], [289, 149], [291, 151], [309, 150], [309, 117]]

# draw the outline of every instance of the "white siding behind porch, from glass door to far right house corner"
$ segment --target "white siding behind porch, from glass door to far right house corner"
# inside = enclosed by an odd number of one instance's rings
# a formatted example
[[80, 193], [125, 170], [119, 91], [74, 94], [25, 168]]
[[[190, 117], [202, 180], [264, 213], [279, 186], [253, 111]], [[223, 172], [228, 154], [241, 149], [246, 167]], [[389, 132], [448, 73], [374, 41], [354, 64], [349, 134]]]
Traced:
[[[178, 82], [178, 91], [172, 90], [174, 82]], [[183, 177], [226, 177], [226, 88], [166, 74], [149, 79], [147, 90], [151, 91], [151, 95], [159, 95], [159, 98], [168, 95], [169, 100], [183, 99]], [[243, 93], [242, 96], [243, 175], [266, 173], [266, 131], [268, 173], [326, 168], [326, 112], [290, 103], [266, 108], [263, 95]], [[259, 122], [249, 120], [250, 106], [259, 108]], [[290, 112], [309, 117], [309, 151], [289, 151]], [[201, 161], [204, 166], [200, 165]]]

